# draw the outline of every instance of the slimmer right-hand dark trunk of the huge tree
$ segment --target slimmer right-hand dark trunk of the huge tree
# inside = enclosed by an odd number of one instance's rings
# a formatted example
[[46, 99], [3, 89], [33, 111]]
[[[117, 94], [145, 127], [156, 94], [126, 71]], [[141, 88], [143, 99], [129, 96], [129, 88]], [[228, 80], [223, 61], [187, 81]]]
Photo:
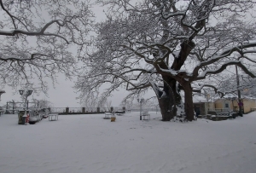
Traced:
[[191, 84], [183, 85], [184, 93], [185, 93], [185, 103], [184, 109], [186, 113], [186, 119], [189, 121], [194, 120], [194, 104], [193, 104], [193, 93]]

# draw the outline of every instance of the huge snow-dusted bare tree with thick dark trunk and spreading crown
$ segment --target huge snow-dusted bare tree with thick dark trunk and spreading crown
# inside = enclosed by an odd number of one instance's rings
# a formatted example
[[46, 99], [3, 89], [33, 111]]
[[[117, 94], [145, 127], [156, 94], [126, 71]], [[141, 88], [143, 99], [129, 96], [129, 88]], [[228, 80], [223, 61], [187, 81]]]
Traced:
[[153, 88], [162, 118], [169, 121], [181, 102], [178, 89], [183, 89], [191, 121], [193, 83], [231, 65], [254, 77], [254, 1], [98, 2], [109, 7], [108, 20], [97, 25], [95, 51], [84, 58], [87, 69], [76, 83], [81, 99], [106, 83], [110, 87], [102, 99], [119, 87], [131, 91], [125, 99]]

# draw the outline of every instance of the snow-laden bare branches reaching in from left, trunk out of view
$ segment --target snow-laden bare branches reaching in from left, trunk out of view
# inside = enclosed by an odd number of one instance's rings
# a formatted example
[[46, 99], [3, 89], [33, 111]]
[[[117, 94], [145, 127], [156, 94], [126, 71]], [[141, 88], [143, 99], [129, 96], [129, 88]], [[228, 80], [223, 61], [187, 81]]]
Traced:
[[89, 1], [0, 0], [0, 84], [15, 87], [56, 74], [71, 78], [84, 55], [93, 14]]

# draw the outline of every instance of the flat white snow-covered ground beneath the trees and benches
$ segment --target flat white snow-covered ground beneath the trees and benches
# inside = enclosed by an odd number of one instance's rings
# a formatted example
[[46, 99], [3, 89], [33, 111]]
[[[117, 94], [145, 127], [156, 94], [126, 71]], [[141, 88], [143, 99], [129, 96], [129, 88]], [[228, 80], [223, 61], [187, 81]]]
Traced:
[[19, 125], [0, 117], [1, 173], [255, 173], [256, 112], [219, 122], [61, 115]]

